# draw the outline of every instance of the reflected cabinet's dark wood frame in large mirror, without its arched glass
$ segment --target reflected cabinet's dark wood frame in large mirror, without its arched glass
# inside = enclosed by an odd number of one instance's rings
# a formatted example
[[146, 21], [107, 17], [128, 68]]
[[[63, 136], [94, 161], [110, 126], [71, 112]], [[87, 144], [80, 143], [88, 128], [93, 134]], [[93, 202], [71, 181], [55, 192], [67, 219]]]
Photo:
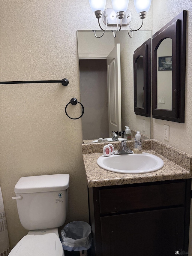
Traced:
[[[143, 56], [143, 107], [137, 107], [137, 60]], [[134, 51], [134, 112], [136, 115], [150, 117], [151, 108], [151, 38]]]

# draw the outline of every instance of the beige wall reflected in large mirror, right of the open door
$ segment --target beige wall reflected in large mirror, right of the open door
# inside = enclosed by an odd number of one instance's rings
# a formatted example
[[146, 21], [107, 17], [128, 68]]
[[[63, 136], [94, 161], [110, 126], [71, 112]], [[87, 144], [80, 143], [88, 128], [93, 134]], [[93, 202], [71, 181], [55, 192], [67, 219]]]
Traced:
[[[129, 126], [131, 130], [140, 131], [151, 138], [151, 118], [135, 115], [134, 113], [134, 70], [133, 54], [147, 39], [151, 38], [151, 31], [139, 30], [130, 38], [127, 31], [120, 31], [115, 38], [115, 44], [121, 46], [121, 102], [122, 102], [122, 130]], [[143, 131], [142, 120], [145, 120]]]

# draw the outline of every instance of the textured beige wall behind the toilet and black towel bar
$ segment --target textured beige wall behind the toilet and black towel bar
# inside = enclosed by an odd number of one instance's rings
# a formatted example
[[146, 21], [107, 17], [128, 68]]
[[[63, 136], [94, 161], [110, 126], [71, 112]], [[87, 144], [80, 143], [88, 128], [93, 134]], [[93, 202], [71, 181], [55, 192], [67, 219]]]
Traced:
[[[134, 9], [132, 14], [138, 26]], [[145, 29], [150, 21], [146, 19]], [[0, 1], [0, 80], [69, 79], [66, 87], [1, 85], [0, 182], [11, 248], [27, 233], [11, 199], [22, 176], [69, 173], [66, 222], [88, 221], [81, 119], [69, 119], [64, 112], [71, 98], [80, 99], [78, 29], [98, 29], [87, 0]], [[73, 117], [80, 113], [79, 106], [67, 110]]]

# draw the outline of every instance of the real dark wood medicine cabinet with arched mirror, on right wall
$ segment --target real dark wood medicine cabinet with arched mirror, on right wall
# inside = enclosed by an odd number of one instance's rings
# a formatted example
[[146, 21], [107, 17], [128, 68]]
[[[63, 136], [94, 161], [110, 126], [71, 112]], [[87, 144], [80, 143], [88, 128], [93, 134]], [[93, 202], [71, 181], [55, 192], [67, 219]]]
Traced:
[[152, 37], [153, 118], [184, 123], [186, 16], [182, 11]]

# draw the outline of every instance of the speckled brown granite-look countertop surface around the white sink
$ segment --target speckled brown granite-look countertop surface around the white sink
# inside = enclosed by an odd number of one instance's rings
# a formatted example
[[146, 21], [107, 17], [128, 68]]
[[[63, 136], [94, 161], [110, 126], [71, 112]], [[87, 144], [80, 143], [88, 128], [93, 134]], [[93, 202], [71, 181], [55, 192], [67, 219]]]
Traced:
[[103, 187], [112, 185], [125, 185], [131, 183], [154, 182], [173, 179], [189, 179], [190, 171], [168, 160], [164, 156], [153, 150], [143, 150], [143, 152], [157, 155], [164, 161], [164, 167], [158, 171], [143, 174], [114, 173], [102, 169], [97, 164], [97, 159], [103, 153], [84, 154], [83, 160], [87, 176], [88, 187]]

